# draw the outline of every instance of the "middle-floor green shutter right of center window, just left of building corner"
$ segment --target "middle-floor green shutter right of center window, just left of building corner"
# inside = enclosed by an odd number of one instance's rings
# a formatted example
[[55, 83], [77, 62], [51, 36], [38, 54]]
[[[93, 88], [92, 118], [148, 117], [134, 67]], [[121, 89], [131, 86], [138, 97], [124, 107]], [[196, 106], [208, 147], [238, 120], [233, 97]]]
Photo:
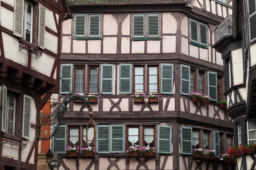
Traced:
[[173, 94], [173, 64], [161, 64], [161, 93]]

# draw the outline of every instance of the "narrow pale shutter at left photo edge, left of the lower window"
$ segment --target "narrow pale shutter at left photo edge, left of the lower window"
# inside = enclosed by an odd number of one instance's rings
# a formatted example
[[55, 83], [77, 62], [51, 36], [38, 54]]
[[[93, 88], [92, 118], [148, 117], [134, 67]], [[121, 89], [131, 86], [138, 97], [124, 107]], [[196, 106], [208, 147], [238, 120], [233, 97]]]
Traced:
[[6, 122], [7, 122], [7, 88], [5, 85], [3, 85], [3, 91], [2, 91], [2, 127], [1, 130], [3, 132], [6, 132]]

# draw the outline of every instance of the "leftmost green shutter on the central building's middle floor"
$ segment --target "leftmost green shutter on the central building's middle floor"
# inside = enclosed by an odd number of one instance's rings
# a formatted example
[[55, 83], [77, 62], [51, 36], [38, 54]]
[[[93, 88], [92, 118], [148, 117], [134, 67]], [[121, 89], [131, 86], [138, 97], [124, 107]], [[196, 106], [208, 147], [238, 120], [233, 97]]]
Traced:
[[60, 80], [60, 94], [72, 92], [72, 71], [73, 64], [61, 64], [61, 79], [64, 83]]

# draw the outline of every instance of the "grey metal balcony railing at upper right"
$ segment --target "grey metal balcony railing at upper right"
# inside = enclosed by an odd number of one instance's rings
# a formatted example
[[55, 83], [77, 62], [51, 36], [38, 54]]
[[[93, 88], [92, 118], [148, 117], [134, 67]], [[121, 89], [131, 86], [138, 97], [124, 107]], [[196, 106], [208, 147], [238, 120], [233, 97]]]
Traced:
[[[220, 40], [222, 37], [233, 34], [232, 29], [232, 15], [227, 16], [221, 24], [218, 26], [217, 39]], [[218, 41], [217, 40], [217, 41]]]

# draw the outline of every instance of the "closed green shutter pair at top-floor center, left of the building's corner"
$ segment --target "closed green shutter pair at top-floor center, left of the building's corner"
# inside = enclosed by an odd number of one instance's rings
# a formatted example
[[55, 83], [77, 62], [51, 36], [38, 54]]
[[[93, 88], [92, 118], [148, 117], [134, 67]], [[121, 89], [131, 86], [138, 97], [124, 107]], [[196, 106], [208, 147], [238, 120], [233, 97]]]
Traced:
[[132, 37], [160, 37], [159, 14], [133, 14]]

